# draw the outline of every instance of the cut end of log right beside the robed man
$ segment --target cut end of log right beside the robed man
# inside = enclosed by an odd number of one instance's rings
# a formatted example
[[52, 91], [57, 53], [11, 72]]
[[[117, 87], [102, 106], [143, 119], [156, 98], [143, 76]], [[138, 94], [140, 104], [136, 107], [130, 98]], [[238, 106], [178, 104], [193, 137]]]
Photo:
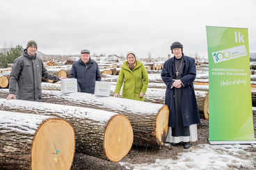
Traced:
[[168, 135], [168, 117], [169, 117], [169, 109], [167, 105], [164, 105], [163, 108], [157, 114], [156, 121], [156, 138], [157, 144], [163, 145], [166, 142], [166, 137]]

